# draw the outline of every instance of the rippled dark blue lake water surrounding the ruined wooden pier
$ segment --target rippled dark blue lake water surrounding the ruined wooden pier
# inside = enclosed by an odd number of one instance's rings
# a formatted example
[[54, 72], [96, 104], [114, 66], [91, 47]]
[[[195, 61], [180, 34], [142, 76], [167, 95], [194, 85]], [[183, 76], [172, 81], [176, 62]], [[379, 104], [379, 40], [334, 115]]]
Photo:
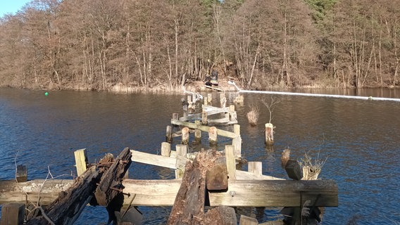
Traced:
[[[28, 179], [44, 179], [75, 172], [73, 151], [87, 148], [90, 162], [105, 153], [118, 155], [125, 147], [159, 153], [165, 127], [173, 113], [181, 113], [180, 94], [112, 94], [88, 91], [30, 91], [0, 89], [0, 179], [13, 179], [15, 163], [28, 166]], [[400, 98], [400, 90], [318, 91]], [[227, 94], [227, 105], [237, 93]], [[273, 149], [264, 146], [268, 110], [261, 99], [271, 95], [244, 94], [236, 105], [241, 125], [242, 154], [248, 161], [262, 161], [263, 174], [287, 178], [280, 167], [282, 150], [293, 158], [308, 152], [327, 158], [321, 179], [334, 179], [339, 187], [339, 207], [326, 207], [323, 224], [400, 224], [400, 103], [343, 98], [274, 96]], [[219, 93], [214, 92], [214, 105]], [[256, 127], [246, 119], [251, 105], [261, 115]], [[229, 128], [226, 128], [229, 129]], [[203, 143], [206, 144], [206, 135]], [[220, 146], [229, 144], [220, 139]], [[208, 146], [201, 146], [208, 148]], [[189, 146], [189, 150], [200, 147]], [[242, 166], [246, 170], [246, 165]], [[132, 179], [172, 179], [174, 173], [139, 163], [130, 166]], [[65, 176], [68, 178], [68, 176]], [[265, 196], [268, 198], [268, 196]], [[165, 224], [170, 207], [139, 207], [144, 224]], [[238, 209], [255, 214], [258, 222], [277, 219], [278, 209]], [[76, 224], [107, 221], [103, 207], [85, 207]]]

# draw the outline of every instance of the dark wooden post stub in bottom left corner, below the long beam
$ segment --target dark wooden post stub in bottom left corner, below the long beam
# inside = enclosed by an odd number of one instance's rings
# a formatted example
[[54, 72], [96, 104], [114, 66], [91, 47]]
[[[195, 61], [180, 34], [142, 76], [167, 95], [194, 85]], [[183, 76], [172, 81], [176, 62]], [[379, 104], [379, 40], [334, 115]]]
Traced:
[[22, 225], [24, 224], [25, 204], [7, 203], [1, 208], [0, 225]]

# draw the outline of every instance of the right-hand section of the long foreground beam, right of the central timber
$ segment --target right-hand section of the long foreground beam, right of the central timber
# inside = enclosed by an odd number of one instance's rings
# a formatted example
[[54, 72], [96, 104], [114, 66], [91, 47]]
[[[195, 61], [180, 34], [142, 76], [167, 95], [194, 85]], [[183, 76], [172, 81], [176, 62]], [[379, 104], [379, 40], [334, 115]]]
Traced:
[[211, 205], [301, 207], [310, 200], [313, 206], [337, 207], [337, 193], [332, 180], [236, 180], [229, 181], [227, 192], [208, 194]]

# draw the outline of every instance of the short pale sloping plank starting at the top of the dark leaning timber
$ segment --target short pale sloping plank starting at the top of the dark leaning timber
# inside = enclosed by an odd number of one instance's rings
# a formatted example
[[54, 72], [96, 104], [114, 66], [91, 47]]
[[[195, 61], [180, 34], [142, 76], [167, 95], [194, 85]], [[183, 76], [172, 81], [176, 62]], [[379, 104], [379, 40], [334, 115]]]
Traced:
[[162, 155], [154, 155], [150, 153], [142, 153], [138, 150], [130, 150], [132, 153], [132, 162], [141, 162], [149, 165], [155, 165], [158, 167], [167, 167], [170, 169], [176, 169], [175, 158], [170, 158]]

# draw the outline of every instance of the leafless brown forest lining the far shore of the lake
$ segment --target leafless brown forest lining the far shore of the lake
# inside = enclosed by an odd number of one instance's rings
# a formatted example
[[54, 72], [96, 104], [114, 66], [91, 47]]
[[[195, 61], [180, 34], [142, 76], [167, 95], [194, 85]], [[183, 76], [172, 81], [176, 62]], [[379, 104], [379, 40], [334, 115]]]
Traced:
[[0, 86], [400, 86], [398, 0], [33, 0], [0, 30]]

